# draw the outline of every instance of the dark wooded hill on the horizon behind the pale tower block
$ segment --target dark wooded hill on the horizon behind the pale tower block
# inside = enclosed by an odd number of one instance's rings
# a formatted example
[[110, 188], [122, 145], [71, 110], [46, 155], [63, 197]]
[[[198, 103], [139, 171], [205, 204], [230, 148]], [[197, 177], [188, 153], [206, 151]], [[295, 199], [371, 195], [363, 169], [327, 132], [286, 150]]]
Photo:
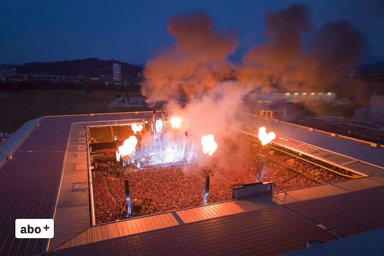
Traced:
[[63, 75], [63, 76], [88, 76], [112, 75], [112, 64], [121, 64], [122, 75], [137, 76], [142, 72], [142, 67], [117, 60], [99, 60], [87, 58], [84, 60], [64, 60], [61, 62], [30, 62], [24, 65], [14, 65], [20, 75]]

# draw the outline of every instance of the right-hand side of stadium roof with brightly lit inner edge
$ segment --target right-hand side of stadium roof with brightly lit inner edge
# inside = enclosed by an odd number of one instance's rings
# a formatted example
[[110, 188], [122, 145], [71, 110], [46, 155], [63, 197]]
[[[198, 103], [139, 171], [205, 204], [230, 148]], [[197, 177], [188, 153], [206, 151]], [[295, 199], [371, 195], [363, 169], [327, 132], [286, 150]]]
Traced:
[[350, 170], [361, 176], [384, 176], [384, 148], [370, 143], [332, 136], [330, 133], [311, 131], [309, 128], [285, 122], [259, 119], [249, 114], [238, 115], [238, 120], [253, 130], [248, 134], [257, 137], [258, 128], [276, 133], [273, 143], [320, 161]]

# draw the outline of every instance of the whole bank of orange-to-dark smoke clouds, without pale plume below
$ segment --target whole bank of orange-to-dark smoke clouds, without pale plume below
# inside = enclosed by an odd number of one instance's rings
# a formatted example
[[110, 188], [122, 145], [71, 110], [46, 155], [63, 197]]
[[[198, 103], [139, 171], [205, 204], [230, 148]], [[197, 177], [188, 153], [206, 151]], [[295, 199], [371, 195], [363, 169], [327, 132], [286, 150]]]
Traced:
[[[266, 88], [281, 80], [307, 89], [331, 85], [367, 53], [365, 35], [348, 21], [326, 23], [314, 31], [306, 5], [266, 13], [265, 23], [267, 43], [254, 46], [235, 66], [227, 59], [238, 47], [235, 30], [217, 30], [203, 10], [169, 18], [167, 29], [175, 45], [147, 62], [143, 95], [148, 101], [179, 98], [182, 91], [191, 96], [231, 76], [242, 84]], [[310, 35], [308, 51], [303, 50], [305, 35]]]

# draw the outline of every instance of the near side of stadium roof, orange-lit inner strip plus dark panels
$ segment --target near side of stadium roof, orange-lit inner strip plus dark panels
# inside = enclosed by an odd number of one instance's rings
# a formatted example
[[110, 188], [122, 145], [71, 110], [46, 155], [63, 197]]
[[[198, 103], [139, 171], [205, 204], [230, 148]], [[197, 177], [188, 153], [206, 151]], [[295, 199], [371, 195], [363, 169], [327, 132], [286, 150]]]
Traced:
[[383, 228], [383, 192], [382, 177], [365, 177], [117, 221], [46, 255], [284, 254]]

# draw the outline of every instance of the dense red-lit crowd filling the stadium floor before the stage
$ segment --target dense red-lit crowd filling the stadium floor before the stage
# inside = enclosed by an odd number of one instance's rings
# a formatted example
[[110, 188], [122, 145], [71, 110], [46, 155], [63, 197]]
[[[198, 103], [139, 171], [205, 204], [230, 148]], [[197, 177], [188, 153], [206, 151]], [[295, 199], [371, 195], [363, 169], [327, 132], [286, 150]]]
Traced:
[[[275, 191], [318, 184], [264, 156], [327, 183], [347, 178], [280, 151], [256, 145], [245, 151], [235, 150], [230, 158], [212, 162], [208, 203], [232, 199], [233, 187], [256, 181], [275, 182]], [[265, 163], [263, 175], [262, 160]], [[93, 181], [96, 223], [114, 221], [121, 213], [126, 202], [124, 180], [129, 181], [132, 199], [146, 199], [146, 211], [142, 213], [145, 215], [201, 205], [205, 178], [200, 170], [197, 165], [184, 165], [96, 175]]]

